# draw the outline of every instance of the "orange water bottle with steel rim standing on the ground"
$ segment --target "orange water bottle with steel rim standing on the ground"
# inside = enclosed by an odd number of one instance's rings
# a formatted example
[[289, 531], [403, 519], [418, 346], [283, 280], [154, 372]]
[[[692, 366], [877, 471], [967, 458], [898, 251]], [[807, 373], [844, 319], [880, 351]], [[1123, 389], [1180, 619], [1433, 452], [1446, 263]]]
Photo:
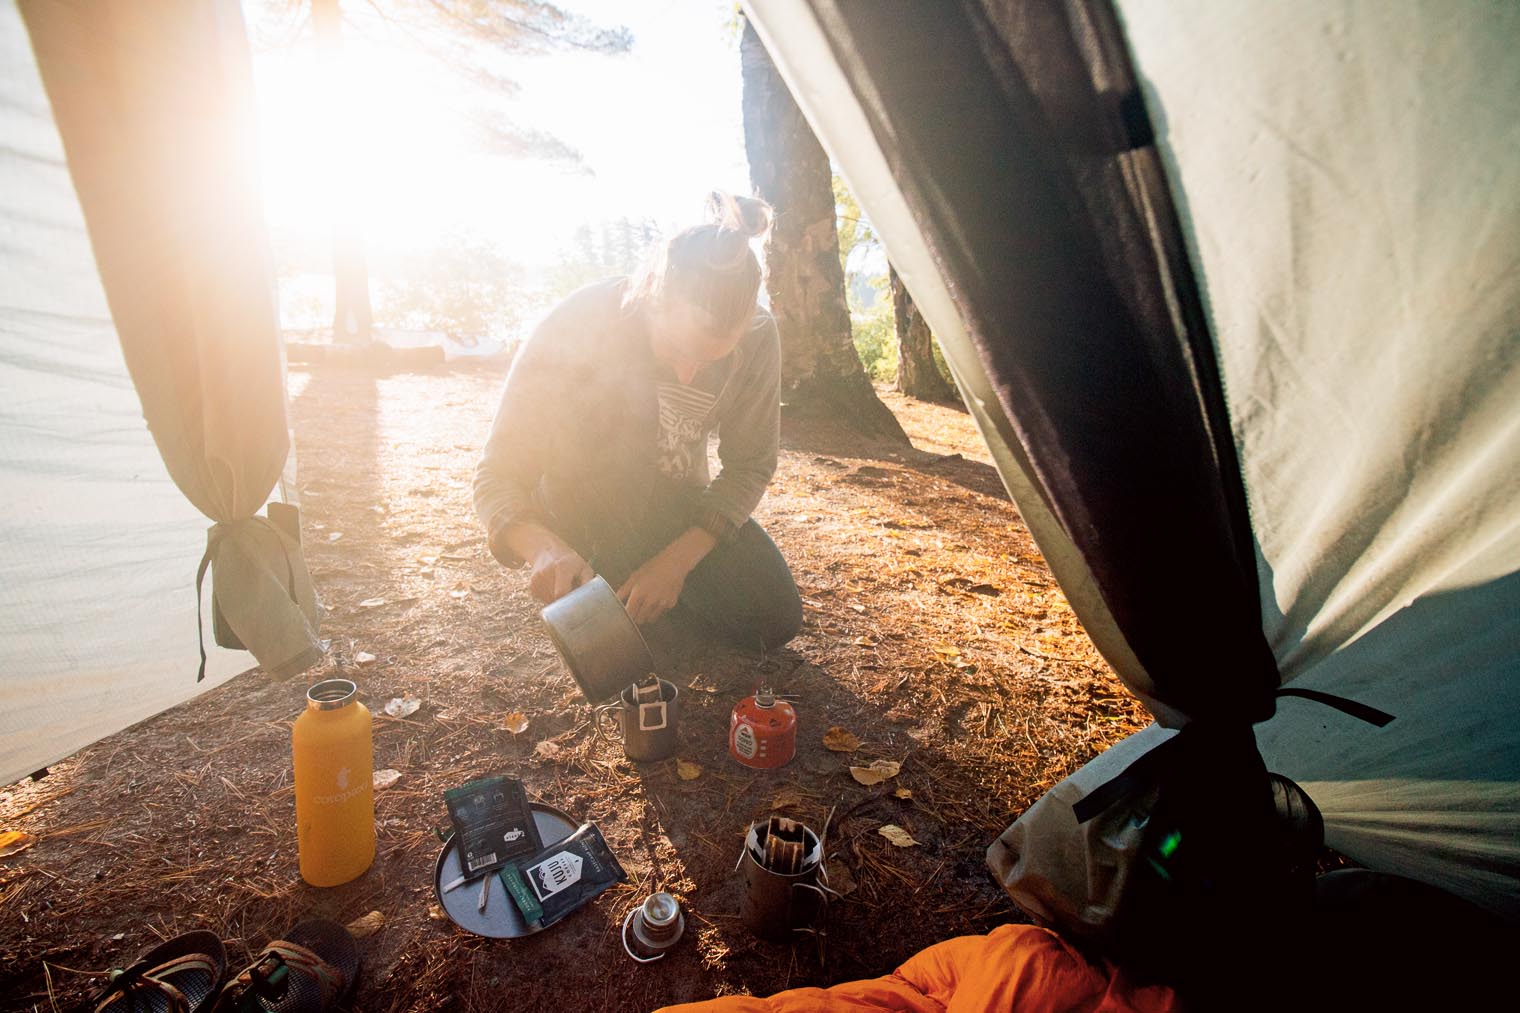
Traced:
[[290, 748], [301, 879], [313, 887], [356, 879], [375, 858], [374, 750], [359, 688], [347, 678], [312, 686]]

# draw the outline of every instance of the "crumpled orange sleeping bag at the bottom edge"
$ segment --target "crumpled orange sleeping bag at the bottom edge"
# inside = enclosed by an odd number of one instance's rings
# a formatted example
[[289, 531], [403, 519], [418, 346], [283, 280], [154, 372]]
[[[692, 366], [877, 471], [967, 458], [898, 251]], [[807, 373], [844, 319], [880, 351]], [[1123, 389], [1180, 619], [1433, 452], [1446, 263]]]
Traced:
[[789, 989], [769, 998], [724, 996], [667, 1005], [658, 1013], [982, 1013], [983, 1010], [1178, 1008], [1164, 986], [1135, 986], [1110, 963], [1094, 964], [1059, 935], [1034, 925], [1003, 925], [988, 935], [958, 935], [920, 951], [889, 975], [831, 989]]

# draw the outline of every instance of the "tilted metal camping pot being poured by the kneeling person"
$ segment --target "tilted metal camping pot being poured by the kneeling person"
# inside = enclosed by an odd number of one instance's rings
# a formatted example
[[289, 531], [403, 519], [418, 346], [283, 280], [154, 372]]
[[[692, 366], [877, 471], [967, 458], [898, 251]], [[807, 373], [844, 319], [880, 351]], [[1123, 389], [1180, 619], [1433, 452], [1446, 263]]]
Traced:
[[593, 704], [611, 700], [655, 668], [638, 624], [600, 576], [544, 605], [538, 614], [576, 686]]

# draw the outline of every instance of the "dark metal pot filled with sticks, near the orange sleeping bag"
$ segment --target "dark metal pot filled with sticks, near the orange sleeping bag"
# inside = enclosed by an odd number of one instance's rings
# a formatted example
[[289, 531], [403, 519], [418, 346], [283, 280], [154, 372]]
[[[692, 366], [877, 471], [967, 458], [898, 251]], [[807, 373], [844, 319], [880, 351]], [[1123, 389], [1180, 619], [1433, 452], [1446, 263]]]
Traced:
[[[783, 835], [792, 840], [781, 841]], [[745, 876], [739, 917], [745, 928], [772, 943], [818, 931], [813, 926], [828, 911], [828, 888], [818, 882], [824, 844], [812, 829], [777, 817], [751, 823], [739, 864]]]

